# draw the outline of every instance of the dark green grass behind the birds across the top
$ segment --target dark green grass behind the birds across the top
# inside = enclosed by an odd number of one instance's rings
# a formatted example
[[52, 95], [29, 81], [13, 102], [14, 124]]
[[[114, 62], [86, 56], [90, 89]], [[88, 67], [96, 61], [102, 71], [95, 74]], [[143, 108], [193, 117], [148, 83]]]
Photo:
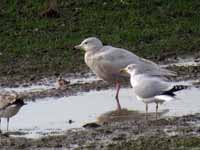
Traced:
[[58, 18], [41, 17], [44, 9], [1, 0], [0, 75], [79, 70], [73, 46], [88, 36], [155, 61], [200, 48], [199, 0], [58, 0]]

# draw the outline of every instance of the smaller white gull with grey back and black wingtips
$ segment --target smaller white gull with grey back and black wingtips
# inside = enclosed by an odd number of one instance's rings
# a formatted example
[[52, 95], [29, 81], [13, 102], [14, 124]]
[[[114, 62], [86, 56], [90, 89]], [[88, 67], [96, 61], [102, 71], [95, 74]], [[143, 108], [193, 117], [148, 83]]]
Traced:
[[174, 92], [187, 88], [186, 85], [173, 85], [163, 79], [155, 76], [140, 73], [141, 68], [138, 65], [130, 64], [121, 72], [127, 72], [131, 76], [131, 85], [138, 100], [146, 103], [146, 113], [148, 104], [156, 103], [156, 118], [158, 104], [165, 101], [171, 101], [176, 96]]

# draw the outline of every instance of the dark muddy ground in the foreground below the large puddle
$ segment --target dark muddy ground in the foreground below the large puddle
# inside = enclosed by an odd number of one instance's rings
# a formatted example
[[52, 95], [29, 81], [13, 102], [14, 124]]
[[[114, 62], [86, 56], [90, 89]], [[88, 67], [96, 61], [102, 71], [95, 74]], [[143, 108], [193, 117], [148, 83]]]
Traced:
[[159, 120], [104, 122], [41, 139], [1, 135], [1, 149], [188, 150], [200, 148], [200, 114]]

